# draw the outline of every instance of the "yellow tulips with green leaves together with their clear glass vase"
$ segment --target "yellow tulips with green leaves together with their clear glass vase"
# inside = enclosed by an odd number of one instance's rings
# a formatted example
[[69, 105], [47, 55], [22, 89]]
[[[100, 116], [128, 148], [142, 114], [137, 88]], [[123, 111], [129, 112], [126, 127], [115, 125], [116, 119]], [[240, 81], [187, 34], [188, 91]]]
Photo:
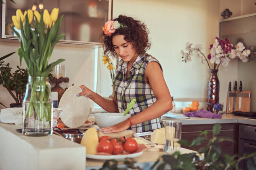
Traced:
[[[52, 68], [63, 62], [59, 59], [48, 63], [55, 44], [64, 37], [59, 35], [62, 17], [58, 18], [59, 9], [54, 8], [49, 14], [28, 10], [24, 14], [20, 9], [12, 16], [13, 24], [20, 29], [21, 35], [10, 26], [20, 42], [18, 55], [28, 67], [28, 84], [23, 99], [22, 133], [31, 136], [52, 134], [53, 102], [50, 97], [50, 84], [47, 76]], [[33, 21], [33, 29], [31, 23]]]

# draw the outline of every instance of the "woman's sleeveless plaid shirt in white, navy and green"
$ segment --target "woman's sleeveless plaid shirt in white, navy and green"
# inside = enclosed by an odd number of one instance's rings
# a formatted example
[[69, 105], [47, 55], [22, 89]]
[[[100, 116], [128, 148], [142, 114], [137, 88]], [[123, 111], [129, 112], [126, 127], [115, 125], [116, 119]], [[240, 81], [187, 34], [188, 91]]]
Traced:
[[[146, 66], [151, 61], [159, 63], [159, 61], [151, 55], [138, 55], [130, 68], [130, 73], [126, 80], [127, 62], [124, 62], [123, 60], [119, 61], [115, 76], [115, 97], [118, 102], [118, 110], [120, 113], [125, 112], [125, 109], [133, 99], [136, 99], [136, 102], [128, 113], [132, 116], [142, 112], [156, 102], [157, 99], [151, 86], [145, 81]], [[131, 129], [140, 133], [153, 131], [162, 127], [164, 126], [161, 123], [161, 118], [158, 117], [137, 125], [132, 125]]]

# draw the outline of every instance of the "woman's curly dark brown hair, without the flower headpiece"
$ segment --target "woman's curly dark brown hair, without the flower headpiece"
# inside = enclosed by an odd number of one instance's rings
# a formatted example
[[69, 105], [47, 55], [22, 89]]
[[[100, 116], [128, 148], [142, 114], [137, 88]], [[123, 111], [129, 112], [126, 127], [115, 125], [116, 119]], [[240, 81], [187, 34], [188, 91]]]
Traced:
[[144, 23], [125, 15], [119, 15], [113, 21], [118, 21], [123, 27], [116, 29], [110, 36], [105, 35], [104, 32], [100, 35], [105, 56], [110, 54], [113, 57], [118, 57], [112, 44], [112, 38], [115, 35], [124, 35], [124, 40], [131, 42], [138, 55], [145, 54], [146, 50], [150, 49], [151, 43], [148, 40], [149, 31]]

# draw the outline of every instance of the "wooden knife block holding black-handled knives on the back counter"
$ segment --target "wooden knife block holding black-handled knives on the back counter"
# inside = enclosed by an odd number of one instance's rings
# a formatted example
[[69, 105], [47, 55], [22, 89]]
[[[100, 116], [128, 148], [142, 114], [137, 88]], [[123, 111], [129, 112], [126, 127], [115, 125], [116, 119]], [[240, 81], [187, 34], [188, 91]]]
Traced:
[[[234, 97], [236, 97], [235, 109], [233, 110]], [[241, 97], [241, 110], [239, 110], [239, 97]], [[228, 109], [230, 102], [230, 110]], [[250, 112], [251, 104], [251, 91], [228, 92], [227, 95], [227, 107], [226, 113], [232, 113], [233, 111]]]

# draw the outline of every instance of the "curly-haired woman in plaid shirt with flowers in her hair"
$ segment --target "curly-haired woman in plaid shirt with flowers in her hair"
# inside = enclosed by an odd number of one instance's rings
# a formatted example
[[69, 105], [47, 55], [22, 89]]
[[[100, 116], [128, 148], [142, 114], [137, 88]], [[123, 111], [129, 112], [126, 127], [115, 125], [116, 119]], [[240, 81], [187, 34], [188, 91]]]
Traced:
[[148, 29], [139, 20], [119, 15], [105, 23], [102, 33], [104, 55], [120, 57], [115, 77], [114, 100], [107, 100], [81, 85], [82, 92], [104, 110], [123, 113], [136, 99], [130, 110], [131, 117], [111, 127], [101, 128], [104, 133], [121, 132], [131, 127], [135, 132], [153, 131], [163, 127], [160, 116], [172, 110], [172, 97], [163, 77], [158, 60], [146, 53], [150, 48]]

